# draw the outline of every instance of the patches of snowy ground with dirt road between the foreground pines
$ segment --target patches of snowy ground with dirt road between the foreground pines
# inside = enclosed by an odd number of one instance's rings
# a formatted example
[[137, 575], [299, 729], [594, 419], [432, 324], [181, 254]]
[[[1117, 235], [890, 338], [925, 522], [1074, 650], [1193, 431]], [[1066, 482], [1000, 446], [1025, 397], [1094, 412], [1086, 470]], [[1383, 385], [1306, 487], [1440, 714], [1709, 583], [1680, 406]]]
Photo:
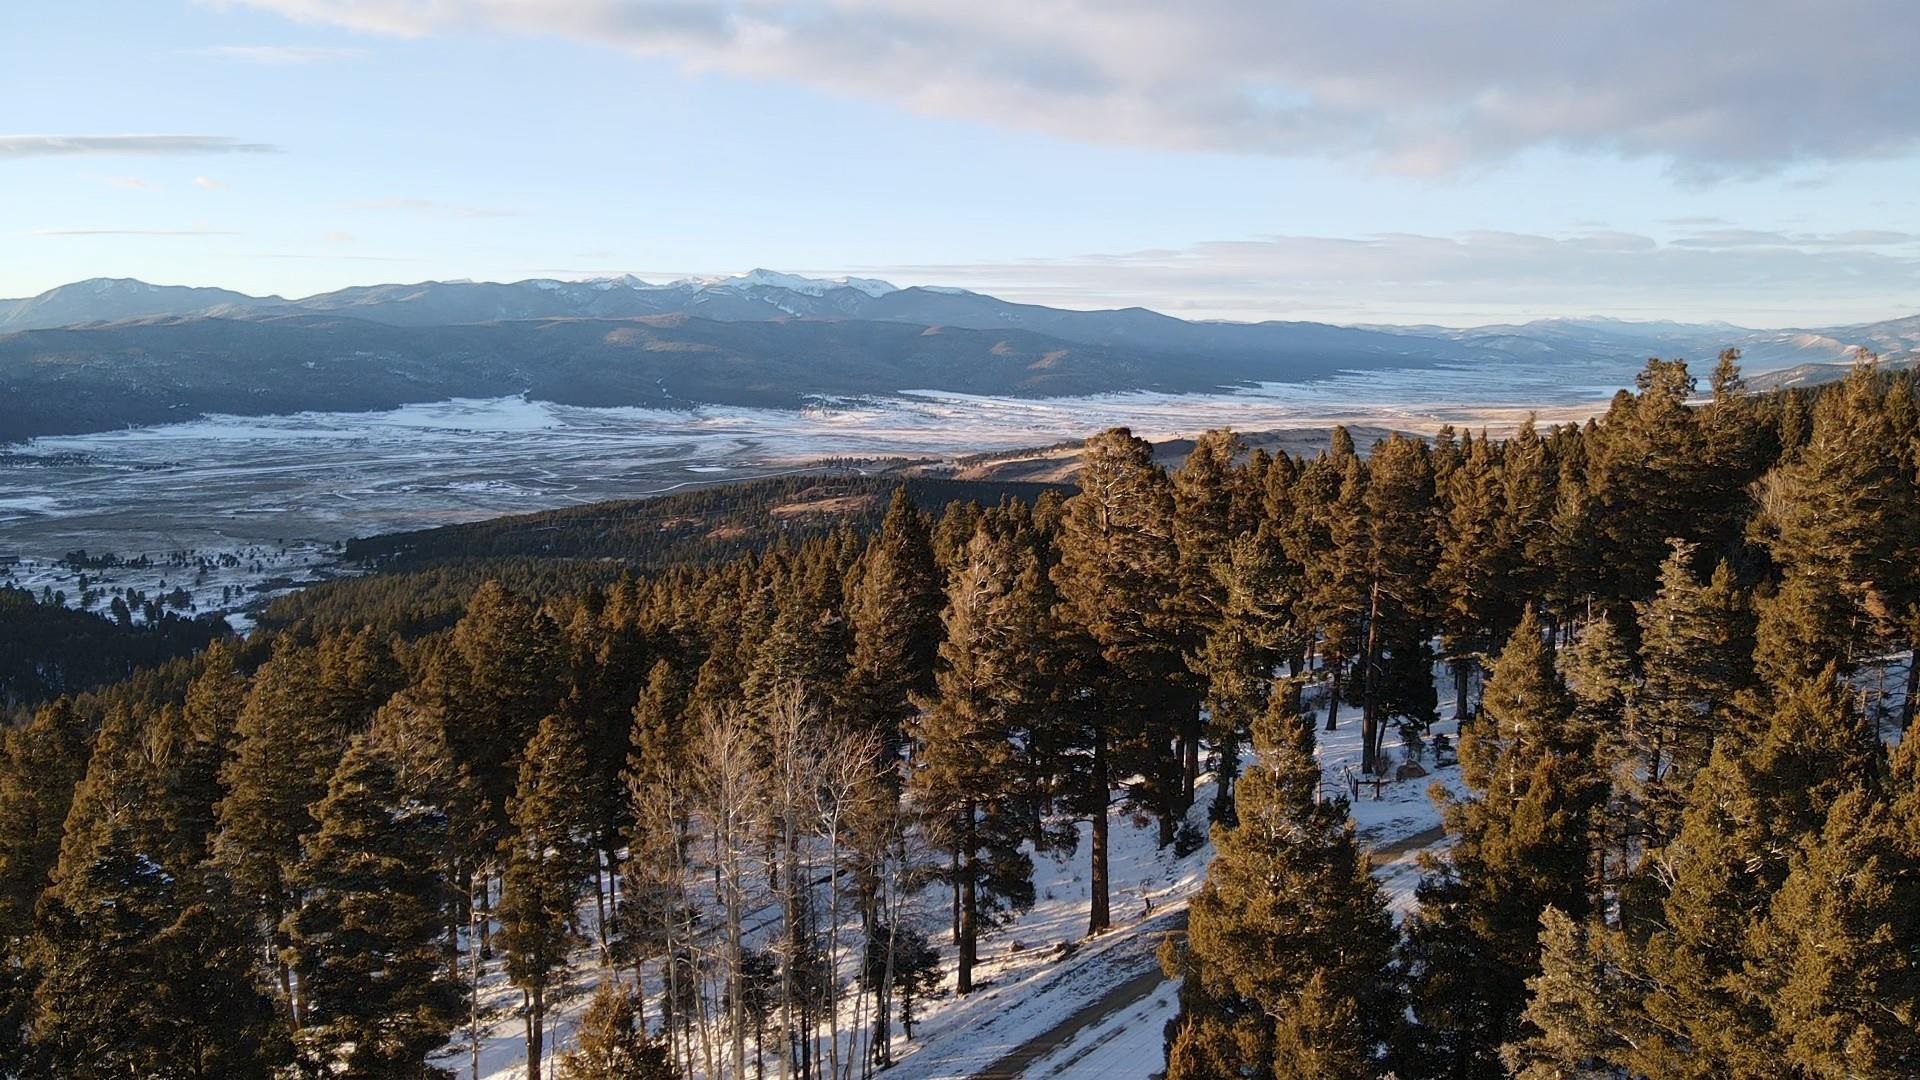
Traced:
[[[1325, 705], [1309, 690], [1308, 705], [1325, 721]], [[1434, 734], [1455, 736], [1452, 694], [1442, 694], [1442, 723]], [[1323, 724], [1321, 724], [1323, 726]], [[1404, 748], [1394, 732], [1386, 736], [1386, 753], [1400, 761]], [[1342, 707], [1340, 728], [1319, 732], [1317, 755], [1329, 794], [1348, 792], [1348, 774], [1359, 761], [1357, 709]], [[1413, 905], [1413, 886], [1419, 878], [1419, 851], [1436, 844], [1432, 832], [1440, 813], [1428, 798], [1430, 784], [1442, 784], [1461, 794], [1459, 767], [1434, 767], [1432, 751], [1425, 763], [1430, 776], [1386, 782], [1379, 796], [1373, 784], [1361, 788], [1352, 803], [1352, 815], [1361, 838], [1380, 855], [1380, 876], [1396, 913]], [[1204, 776], [1196, 790], [1190, 819], [1204, 824], [1213, 799], [1213, 780]], [[1064, 1020], [1089, 1020], [1058, 1047], [1039, 1055], [1025, 1076], [1071, 1076], [1144, 1080], [1158, 1072], [1162, 1061], [1162, 1028], [1177, 1011], [1177, 984], [1164, 982], [1156, 951], [1167, 932], [1185, 924], [1185, 907], [1206, 880], [1212, 844], [1185, 859], [1171, 847], [1158, 847], [1158, 830], [1121, 805], [1110, 811], [1110, 880], [1114, 928], [1098, 938], [1087, 938], [1087, 838], [1081, 824], [1077, 853], [1064, 857], [1035, 857], [1035, 894], [1031, 911], [995, 930], [981, 942], [981, 963], [975, 969], [975, 992], [958, 997], [952, 992], [952, 938], [947, 924], [947, 892], [929, 888], [918, 897], [920, 926], [941, 949], [945, 965], [943, 986], [920, 1007], [914, 1040], [895, 1032], [897, 1065], [885, 1072], [893, 1080], [970, 1080], [979, 1070], [1021, 1049], [1029, 1040], [1046, 1036]], [[553, 1049], [563, 1051], [572, 1042], [578, 1013], [603, 978], [593, 949], [584, 949], [572, 970], [570, 994], [553, 1009]], [[1087, 1011], [1116, 988], [1135, 984], [1137, 999], [1117, 1011], [1091, 1017]], [[482, 1042], [482, 1080], [520, 1080], [526, 1074], [524, 1032], [516, 1017], [518, 994], [492, 976], [484, 1005], [493, 1020]], [[440, 1059], [442, 1065], [468, 1076], [468, 1047], [455, 1038]], [[772, 1065], [770, 1065], [772, 1070]]]

